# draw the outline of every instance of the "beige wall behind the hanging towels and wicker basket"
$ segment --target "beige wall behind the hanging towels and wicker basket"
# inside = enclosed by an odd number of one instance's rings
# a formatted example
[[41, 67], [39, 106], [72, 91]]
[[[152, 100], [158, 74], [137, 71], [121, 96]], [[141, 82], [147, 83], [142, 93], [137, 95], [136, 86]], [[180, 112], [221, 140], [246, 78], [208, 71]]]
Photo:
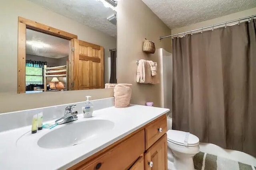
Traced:
[[[170, 35], [171, 30], [142, 2], [142, 0], [118, 1], [117, 21], [117, 56], [118, 83], [130, 83], [132, 87], [132, 103], [145, 105], [154, 102], [161, 104], [160, 84], [136, 83], [136, 61], [152, 60], [160, 64], [159, 48], [171, 51], [171, 40], [159, 40], [160, 36]], [[142, 51], [143, 39], [154, 41], [155, 54]], [[158, 72], [159, 73], [159, 72]]]

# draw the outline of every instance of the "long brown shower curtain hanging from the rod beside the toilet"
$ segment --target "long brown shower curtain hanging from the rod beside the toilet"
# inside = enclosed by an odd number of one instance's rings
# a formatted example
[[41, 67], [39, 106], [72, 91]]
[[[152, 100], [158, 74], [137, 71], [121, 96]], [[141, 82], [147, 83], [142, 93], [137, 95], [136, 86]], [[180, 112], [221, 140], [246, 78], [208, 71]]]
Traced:
[[256, 156], [256, 20], [172, 40], [173, 129]]

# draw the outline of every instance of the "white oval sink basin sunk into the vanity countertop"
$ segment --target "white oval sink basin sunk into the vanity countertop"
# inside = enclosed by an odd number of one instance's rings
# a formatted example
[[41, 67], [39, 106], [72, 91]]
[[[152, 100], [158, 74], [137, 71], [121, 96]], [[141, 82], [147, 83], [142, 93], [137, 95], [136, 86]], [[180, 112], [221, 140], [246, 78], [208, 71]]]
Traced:
[[109, 120], [88, 120], [67, 123], [63, 127], [42, 136], [38, 146], [48, 149], [71, 147], [80, 143], [92, 142], [100, 135], [110, 132], [114, 123]]

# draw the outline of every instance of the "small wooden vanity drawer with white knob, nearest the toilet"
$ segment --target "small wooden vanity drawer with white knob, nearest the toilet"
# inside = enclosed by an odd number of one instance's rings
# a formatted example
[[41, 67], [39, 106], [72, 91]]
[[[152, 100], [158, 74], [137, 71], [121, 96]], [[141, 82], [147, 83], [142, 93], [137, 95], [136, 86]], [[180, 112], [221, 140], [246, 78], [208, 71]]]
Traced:
[[[162, 132], [160, 129], [162, 128]], [[167, 131], [167, 118], [162, 115], [145, 127], [145, 150], [152, 146]]]

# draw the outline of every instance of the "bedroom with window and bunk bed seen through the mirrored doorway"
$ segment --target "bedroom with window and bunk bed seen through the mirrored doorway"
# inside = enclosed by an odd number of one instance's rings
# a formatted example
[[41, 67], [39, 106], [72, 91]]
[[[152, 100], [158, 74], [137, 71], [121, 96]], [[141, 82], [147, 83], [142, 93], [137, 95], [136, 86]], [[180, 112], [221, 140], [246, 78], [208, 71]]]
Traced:
[[69, 42], [26, 29], [26, 93], [67, 89]]

